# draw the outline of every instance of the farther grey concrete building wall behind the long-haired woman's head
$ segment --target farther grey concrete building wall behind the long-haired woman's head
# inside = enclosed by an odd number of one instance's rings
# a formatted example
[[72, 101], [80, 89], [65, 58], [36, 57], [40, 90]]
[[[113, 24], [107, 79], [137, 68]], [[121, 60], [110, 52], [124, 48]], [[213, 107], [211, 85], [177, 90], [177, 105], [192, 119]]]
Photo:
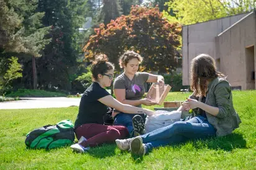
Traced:
[[[226, 30], [232, 24], [242, 19], [247, 14], [234, 15], [208, 22], [185, 25], [182, 28], [182, 82], [183, 85], [190, 84], [190, 63], [198, 54], [206, 53], [214, 57], [218, 62], [219, 55], [216, 54], [215, 37]], [[221, 61], [219, 61], [221, 62]], [[219, 64], [221, 67], [221, 64]]]

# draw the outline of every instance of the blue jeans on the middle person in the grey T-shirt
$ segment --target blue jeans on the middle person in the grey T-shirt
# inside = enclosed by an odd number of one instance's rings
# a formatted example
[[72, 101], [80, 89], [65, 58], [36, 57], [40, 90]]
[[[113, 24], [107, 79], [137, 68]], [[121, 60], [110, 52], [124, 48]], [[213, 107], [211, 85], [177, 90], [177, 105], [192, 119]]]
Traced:
[[119, 113], [114, 117], [114, 125], [124, 125], [127, 127], [129, 134], [132, 135], [134, 132], [134, 127], [132, 126], [132, 117], [135, 115], [140, 115], [145, 122], [145, 114]]

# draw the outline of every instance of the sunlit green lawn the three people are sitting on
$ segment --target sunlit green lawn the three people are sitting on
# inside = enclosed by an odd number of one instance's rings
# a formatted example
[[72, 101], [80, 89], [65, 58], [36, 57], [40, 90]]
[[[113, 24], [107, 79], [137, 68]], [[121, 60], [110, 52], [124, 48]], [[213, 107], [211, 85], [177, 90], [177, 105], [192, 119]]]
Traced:
[[[169, 93], [167, 100], [185, 100], [188, 95]], [[242, 119], [233, 134], [160, 147], [144, 158], [132, 158], [114, 144], [85, 154], [73, 153], [70, 147], [30, 150], [24, 143], [27, 132], [63, 119], [74, 122], [78, 107], [0, 110], [0, 169], [255, 169], [256, 91], [234, 91], [233, 96]]]

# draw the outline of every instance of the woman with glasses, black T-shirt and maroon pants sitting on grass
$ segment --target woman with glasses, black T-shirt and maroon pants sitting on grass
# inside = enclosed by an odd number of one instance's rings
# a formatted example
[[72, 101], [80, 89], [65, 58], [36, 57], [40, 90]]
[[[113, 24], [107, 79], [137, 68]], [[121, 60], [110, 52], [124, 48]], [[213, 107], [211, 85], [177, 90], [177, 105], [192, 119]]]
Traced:
[[114, 142], [117, 138], [126, 138], [129, 132], [121, 125], [104, 125], [103, 116], [109, 107], [122, 112], [152, 115], [149, 109], [122, 104], [114, 99], [104, 88], [111, 85], [114, 66], [107, 62], [104, 54], [96, 57], [91, 66], [94, 82], [81, 97], [79, 113], [75, 121], [75, 134], [79, 142], [71, 145], [74, 151], [84, 153], [86, 147], [96, 147], [102, 143]]

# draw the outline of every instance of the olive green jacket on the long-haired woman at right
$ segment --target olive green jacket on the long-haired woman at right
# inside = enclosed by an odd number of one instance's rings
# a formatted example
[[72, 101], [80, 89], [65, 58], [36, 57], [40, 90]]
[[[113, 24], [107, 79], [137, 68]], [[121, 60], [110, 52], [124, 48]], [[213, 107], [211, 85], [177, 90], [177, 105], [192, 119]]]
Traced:
[[234, 109], [231, 85], [226, 79], [217, 77], [209, 82], [205, 104], [219, 108], [216, 116], [206, 112], [209, 123], [216, 129], [216, 136], [231, 134], [239, 127], [241, 120]]

